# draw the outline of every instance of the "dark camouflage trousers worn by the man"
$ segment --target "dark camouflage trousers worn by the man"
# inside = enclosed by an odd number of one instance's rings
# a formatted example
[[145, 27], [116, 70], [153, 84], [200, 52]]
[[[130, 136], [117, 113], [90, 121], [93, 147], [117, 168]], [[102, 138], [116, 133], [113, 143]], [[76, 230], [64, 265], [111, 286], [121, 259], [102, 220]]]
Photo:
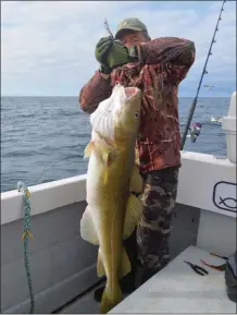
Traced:
[[177, 195], [178, 169], [173, 167], [151, 171], [144, 178], [144, 214], [137, 230], [125, 241], [137, 287], [170, 261], [169, 239]]

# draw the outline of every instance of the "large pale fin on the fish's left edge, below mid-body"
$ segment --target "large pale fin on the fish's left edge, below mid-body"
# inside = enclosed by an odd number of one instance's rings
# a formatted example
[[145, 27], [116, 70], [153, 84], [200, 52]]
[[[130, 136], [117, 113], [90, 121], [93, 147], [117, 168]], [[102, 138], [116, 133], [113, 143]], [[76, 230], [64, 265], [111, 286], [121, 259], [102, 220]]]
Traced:
[[80, 237], [91, 244], [99, 245], [99, 239], [89, 211], [89, 206], [86, 207], [80, 219]]

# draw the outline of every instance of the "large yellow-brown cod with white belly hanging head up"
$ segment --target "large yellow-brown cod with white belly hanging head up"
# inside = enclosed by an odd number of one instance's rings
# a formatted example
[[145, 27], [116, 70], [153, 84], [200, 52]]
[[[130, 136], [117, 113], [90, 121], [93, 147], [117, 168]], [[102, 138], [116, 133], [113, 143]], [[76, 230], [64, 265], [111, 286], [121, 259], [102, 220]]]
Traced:
[[91, 141], [85, 149], [85, 157], [89, 157], [88, 205], [80, 234], [99, 245], [97, 272], [107, 277], [100, 313], [108, 313], [122, 301], [118, 280], [130, 271], [123, 240], [133, 233], [142, 213], [142, 202], [130, 194], [142, 190], [135, 163], [140, 104], [140, 89], [117, 84], [90, 116]]

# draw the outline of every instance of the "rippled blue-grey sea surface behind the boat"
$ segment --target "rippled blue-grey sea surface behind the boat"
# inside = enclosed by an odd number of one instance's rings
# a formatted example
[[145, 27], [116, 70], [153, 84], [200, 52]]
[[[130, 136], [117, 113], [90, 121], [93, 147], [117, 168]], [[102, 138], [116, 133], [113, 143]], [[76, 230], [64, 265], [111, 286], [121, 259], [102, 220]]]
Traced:
[[[179, 98], [180, 129], [192, 98]], [[225, 134], [219, 122], [228, 111], [228, 98], [199, 98], [194, 122], [201, 122], [195, 144], [185, 149], [226, 156]], [[86, 173], [84, 148], [90, 138], [89, 116], [76, 97], [1, 98], [1, 192]]]

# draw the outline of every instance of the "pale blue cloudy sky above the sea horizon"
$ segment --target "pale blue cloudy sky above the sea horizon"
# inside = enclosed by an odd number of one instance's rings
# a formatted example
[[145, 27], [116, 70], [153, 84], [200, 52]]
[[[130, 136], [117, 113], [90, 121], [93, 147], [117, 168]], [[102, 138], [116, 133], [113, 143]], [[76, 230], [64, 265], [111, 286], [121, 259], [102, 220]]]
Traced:
[[[222, 1], [1, 1], [1, 95], [78, 96], [99, 69], [97, 41], [118, 22], [138, 17], [152, 38], [176, 36], [196, 45], [196, 61], [179, 85], [195, 96]], [[227, 1], [200, 96], [236, 89], [236, 3]]]

